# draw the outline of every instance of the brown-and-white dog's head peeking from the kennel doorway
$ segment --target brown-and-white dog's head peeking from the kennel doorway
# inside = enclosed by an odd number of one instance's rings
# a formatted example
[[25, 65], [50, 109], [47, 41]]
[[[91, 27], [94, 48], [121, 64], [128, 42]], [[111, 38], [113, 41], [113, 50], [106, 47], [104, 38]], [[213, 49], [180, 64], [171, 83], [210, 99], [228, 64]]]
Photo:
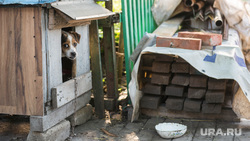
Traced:
[[62, 31], [62, 57], [67, 57], [70, 60], [76, 59], [76, 46], [80, 42], [81, 35], [74, 32]]

